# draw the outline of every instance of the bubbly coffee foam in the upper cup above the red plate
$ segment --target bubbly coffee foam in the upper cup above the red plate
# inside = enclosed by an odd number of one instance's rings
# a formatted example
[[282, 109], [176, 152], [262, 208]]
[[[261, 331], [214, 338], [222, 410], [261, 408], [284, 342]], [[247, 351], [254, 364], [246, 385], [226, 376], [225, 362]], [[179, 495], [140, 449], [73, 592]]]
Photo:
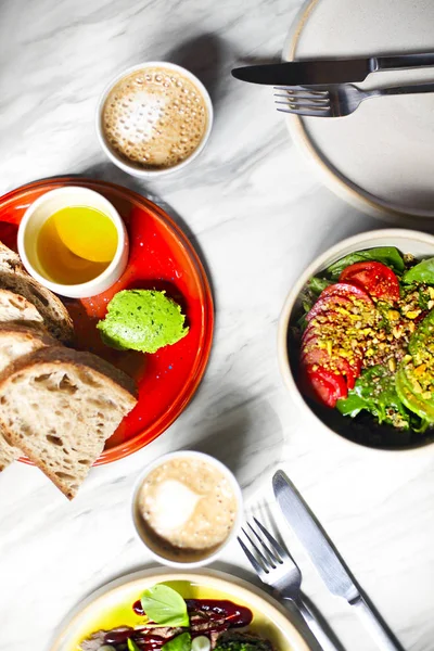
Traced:
[[102, 111], [105, 140], [142, 169], [166, 169], [186, 161], [208, 123], [199, 88], [177, 71], [150, 67], [120, 79]]

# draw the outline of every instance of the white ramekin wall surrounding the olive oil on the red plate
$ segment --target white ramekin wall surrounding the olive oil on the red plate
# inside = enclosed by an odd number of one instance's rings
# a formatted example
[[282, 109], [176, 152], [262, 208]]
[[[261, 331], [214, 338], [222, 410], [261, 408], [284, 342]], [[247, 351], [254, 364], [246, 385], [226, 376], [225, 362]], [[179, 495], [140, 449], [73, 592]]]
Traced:
[[[47, 219], [58, 210], [71, 206], [89, 206], [110, 217], [117, 232], [117, 248], [108, 267], [97, 278], [78, 284], [62, 284], [44, 272], [38, 256], [37, 241]], [[28, 273], [52, 292], [71, 298], [86, 298], [105, 292], [120, 278], [128, 263], [128, 235], [118, 212], [99, 192], [78, 186], [58, 188], [37, 199], [24, 214], [17, 240], [18, 253]]]

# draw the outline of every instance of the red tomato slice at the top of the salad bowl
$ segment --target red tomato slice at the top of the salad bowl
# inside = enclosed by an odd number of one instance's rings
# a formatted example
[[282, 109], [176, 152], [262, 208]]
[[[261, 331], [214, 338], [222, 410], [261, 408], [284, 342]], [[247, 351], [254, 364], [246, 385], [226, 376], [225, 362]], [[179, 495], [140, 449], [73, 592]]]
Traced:
[[399, 299], [399, 282], [396, 273], [382, 263], [367, 260], [349, 265], [342, 271], [340, 282], [355, 284], [368, 292], [370, 296], [382, 301], [395, 303]]

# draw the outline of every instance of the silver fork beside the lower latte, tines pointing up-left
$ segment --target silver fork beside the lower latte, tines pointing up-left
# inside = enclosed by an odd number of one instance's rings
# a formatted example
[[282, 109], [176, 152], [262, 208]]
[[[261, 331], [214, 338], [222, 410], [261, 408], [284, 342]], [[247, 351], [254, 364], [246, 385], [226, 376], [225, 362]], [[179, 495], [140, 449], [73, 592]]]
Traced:
[[256, 518], [253, 520], [263, 536], [258, 534], [257, 529], [250, 522], [247, 522], [250, 533], [244, 527], [242, 528], [245, 539], [253, 551], [251, 551], [240, 536], [238, 537], [238, 541], [256, 574], [264, 584], [272, 587], [280, 597], [293, 601], [324, 651], [337, 651], [317, 617], [302, 598], [302, 572], [298, 565], [265, 526]]

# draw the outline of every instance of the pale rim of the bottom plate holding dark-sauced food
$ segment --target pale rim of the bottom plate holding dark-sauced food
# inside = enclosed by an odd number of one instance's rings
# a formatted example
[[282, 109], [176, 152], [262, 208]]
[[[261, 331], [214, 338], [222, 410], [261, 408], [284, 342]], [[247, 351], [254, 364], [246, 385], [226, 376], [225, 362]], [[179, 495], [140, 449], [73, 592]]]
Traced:
[[[153, 579], [155, 577], [156, 582], [168, 582], [168, 580], [187, 580], [191, 583], [194, 580], [194, 577], [199, 577], [202, 580], [208, 580], [213, 584], [221, 585], [220, 588], [225, 591], [225, 586], [235, 586], [239, 592], [242, 595], [245, 593], [248, 597], [254, 598], [254, 600], [259, 603], [266, 603], [278, 616], [278, 620], [289, 624], [294, 634], [294, 640], [291, 640], [291, 649], [292, 651], [310, 651], [310, 647], [304, 637], [302, 636], [298, 626], [291, 618], [290, 609], [284, 608], [277, 599], [265, 592], [263, 589], [258, 588], [254, 584], [240, 578], [233, 574], [229, 574], [227, 572], [221, 572], [218, 570], [212, 569], [199, 569], [199, 570], [170, 570], [169, 567], [162, 566], [152, 566], [146, 570], [139, 570], [136, 572], [128, 573], [118, 578], [107, 582], [106, 584], [100, 586], [95, 590], [92, 590], [85, 599], [78, 601], [76, 605], [72, 609], [72, 614], [66, 615], [63, 621], [56, 627], [56, 631], [53, 634], [52, 639], [49, 642], [48, 651], [66, 651], [63, 647], [65, 641], [67, 641], [66, 636], [72, 631], [73, 627], [79, 622], [82, 614], [94, 605], [94, 603], [99, 600], [103, 600], [111, 592], [115, 592], [119, 588], [123, 588], [128, 585], [132, 585], [137, 583], [138, 585], [145, 580]], [[228, 588], [227, 588], [228, 589]], [[233, 589], [233, 588], [232, 588]], [[231, 593], [231, 592], [229, 592]], [[244, 599], [248, 603], [248, 599]], [[302, 622], [303, 624], [303, 622]], [[293, 644], [296, 644], [293, 647]], [[69, 651], [69, 650], [67, 650]], [[71, 650], [73, 651], [73, 650]]]

